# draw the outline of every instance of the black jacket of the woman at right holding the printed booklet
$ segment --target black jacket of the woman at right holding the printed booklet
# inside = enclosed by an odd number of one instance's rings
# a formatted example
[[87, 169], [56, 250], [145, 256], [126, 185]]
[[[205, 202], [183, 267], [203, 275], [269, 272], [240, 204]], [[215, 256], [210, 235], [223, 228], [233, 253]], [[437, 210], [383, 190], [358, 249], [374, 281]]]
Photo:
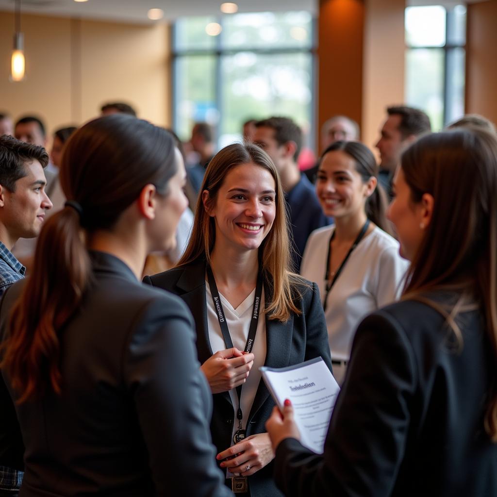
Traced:
[[283, 493], [496, 496], [497, 444], [483, 424], [496, 359], [480, 312], [462, 315], [459, 326], [460, 353], [444, 318], [425, 304], [399, 302], [367, 317], [355, 335], [324, 455], [291, 438], [276, 450]]

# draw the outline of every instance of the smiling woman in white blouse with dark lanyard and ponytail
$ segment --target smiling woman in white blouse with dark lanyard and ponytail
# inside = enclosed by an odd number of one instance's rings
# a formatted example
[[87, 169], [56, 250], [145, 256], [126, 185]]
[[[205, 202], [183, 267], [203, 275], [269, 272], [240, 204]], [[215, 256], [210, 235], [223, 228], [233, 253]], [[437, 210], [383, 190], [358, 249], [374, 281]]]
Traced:
[[390, 236], [386, 200], [372, 152], [359, 142], [335, 142], [325, 150], [316, 193], [334, 224], [314, 231], [301, 274], [318, 283], [333, 358], [343, 381], [355, 329], [361, 319], [400, 296], [408, 261]]

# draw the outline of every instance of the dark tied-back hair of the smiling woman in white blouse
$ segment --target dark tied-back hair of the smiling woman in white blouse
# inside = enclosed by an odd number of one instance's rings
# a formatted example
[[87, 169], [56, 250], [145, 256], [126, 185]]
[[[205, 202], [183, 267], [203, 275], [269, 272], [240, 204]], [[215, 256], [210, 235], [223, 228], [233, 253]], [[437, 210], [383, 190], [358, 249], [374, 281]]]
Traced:
[[377, 180], [376, 188], [373, 193], [366, 199], [365, 211], [366, 216], [378, 228], [392, 235], [392, 228], [387, 220], [387, 195], [385, 190], [378, 182], [378, 166], [373, 153], [360, 142], [338, 141], [332, 143], [322, 154], [321, 161], [329, 152], [340, 151], [347, 154], [355, 162], [355, 170], [360, 174], [362, 181], [366, 183], [372, 176]]

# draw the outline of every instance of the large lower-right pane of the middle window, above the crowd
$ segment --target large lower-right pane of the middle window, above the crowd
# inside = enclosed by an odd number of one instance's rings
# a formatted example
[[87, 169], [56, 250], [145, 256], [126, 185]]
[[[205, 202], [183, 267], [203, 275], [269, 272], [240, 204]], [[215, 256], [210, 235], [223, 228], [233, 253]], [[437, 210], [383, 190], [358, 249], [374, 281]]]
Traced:
[[220, 145], [240, 137], [242, 123], [288, 116], [304, 129], [311, 117], [312, 55], [239, 52], [221, 59]]

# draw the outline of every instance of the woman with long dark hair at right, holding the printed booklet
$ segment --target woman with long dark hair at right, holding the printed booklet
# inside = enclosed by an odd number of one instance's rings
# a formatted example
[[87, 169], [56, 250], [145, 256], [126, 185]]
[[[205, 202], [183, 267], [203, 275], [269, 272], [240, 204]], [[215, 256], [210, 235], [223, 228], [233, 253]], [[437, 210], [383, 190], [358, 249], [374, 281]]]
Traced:
[[420, 138], [394, 192], [408, 279], [359, 325], [324, 454], [291, 406], [266, 425], [287, 496], [497, 495], [496, 135]]

